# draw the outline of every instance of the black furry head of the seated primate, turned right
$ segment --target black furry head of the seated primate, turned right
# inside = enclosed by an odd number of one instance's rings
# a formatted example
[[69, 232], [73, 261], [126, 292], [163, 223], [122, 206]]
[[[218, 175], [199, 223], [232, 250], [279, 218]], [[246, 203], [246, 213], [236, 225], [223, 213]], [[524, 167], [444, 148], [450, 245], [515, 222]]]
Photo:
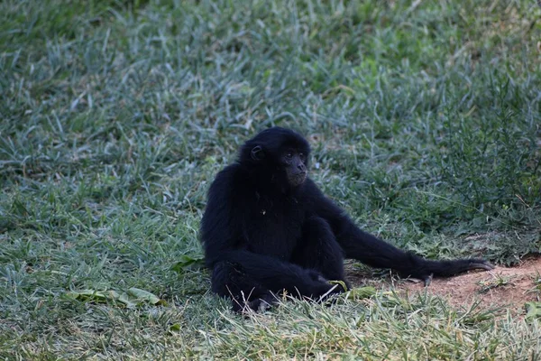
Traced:
[[275, 126], [244, 143], [240, 161], [298, 187], [307, 179], [309, 154], [310, 146], [300, 134]]

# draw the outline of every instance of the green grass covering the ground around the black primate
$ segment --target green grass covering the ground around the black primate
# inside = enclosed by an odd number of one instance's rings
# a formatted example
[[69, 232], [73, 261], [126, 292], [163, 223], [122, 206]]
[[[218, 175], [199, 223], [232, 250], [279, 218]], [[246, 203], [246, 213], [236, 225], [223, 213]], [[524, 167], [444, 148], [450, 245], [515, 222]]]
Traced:
[[[539, 359], [537, 320], [429, 297], [233, 315], [197, 230], [215, 173], [282, 125], [311, 140], [317, 184], [395, 245], [541, 252], [540, 15], [526, 0], [0, 2], [0, 358]], [[167, 305], [69, 297], [133, 287]]]

